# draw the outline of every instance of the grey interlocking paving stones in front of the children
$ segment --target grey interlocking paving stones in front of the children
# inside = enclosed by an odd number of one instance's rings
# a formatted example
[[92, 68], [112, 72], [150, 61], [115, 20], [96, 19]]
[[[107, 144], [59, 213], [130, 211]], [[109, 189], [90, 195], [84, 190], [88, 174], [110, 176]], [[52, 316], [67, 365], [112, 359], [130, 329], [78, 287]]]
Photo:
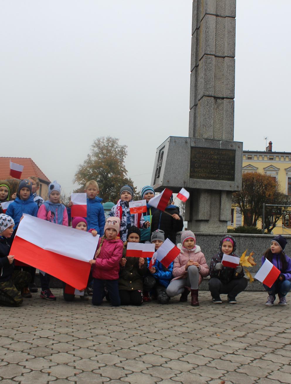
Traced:
[[291, 382], [291, 303], [266, 307], [264, 292], [214, 305], [200, 291], [196, 308], [178, 296], [113, 308], [54, 293], [1, 307], [1, 384]]

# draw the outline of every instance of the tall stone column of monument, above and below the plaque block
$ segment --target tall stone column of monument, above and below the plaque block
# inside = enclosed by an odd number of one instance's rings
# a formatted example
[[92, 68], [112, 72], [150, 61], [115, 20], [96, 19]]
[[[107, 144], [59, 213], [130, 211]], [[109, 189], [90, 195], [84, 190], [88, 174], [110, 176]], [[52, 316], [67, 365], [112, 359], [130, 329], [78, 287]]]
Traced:
[[[189, 137], [234, 139], [235, 0], [193, 0]], [[226, 232], [231, 191], [194, 189], [188, 229]]]

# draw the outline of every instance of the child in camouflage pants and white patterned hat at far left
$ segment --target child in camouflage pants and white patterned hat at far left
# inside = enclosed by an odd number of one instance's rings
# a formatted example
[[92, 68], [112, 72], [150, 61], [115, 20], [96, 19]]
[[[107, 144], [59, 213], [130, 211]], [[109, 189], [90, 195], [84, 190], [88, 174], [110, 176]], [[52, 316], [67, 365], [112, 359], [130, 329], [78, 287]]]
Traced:
[[14, 256], [9, 255], [15, 236], [13, 218], [0, 214], [0, 304], [19, 306], [23, 302], [20, 291], [28, 286], [28, 272], [14, 270]]

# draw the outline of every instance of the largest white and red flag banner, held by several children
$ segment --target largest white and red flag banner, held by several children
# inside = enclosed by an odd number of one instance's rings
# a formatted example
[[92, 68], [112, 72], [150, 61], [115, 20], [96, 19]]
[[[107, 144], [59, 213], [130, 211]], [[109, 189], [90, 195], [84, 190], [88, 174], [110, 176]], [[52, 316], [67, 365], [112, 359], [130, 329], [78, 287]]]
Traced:
[[23, 214], [10, 255], [65, 283], [83, 290], [87, 287], [99, 235], [79, 231], [38, 217]]

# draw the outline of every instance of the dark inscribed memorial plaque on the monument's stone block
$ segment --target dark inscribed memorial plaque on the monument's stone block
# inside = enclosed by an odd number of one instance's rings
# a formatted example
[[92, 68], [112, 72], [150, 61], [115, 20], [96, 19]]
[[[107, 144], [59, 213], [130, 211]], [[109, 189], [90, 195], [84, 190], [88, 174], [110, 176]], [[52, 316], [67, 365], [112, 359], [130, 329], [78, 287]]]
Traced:
[[235, 179], [235, 150], [191, 147], [190, 179]]

